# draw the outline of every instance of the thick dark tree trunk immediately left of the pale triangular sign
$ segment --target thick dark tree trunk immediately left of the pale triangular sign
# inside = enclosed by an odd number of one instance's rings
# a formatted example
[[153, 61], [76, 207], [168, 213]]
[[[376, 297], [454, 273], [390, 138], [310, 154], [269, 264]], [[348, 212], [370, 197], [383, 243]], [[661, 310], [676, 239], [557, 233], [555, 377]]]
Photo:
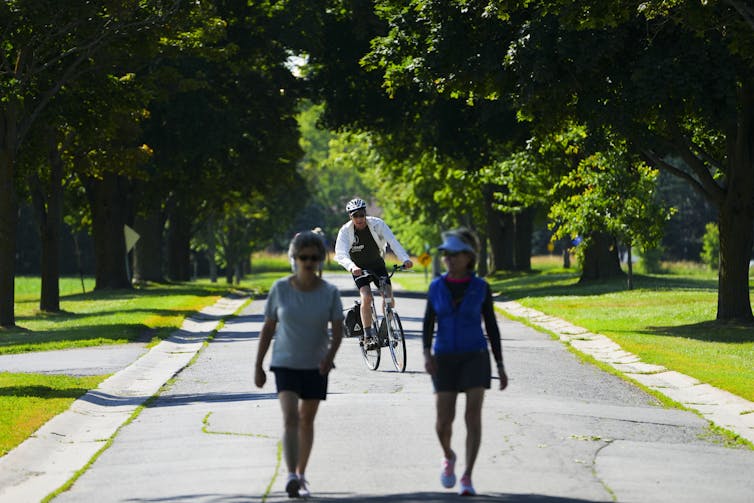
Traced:
[[88, 179], [87, 195], [92, 208], [94, 239], [94, 289], [131, 288], [126, 270], [125, 179], [105, 173], [101, 180]]

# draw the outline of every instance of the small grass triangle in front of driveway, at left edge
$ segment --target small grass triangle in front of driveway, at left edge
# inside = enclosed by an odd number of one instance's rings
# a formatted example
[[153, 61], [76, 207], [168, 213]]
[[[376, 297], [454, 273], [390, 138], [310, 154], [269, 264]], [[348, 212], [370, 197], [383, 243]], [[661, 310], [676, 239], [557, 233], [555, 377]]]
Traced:
[[0, 372], [0, 456], [96, 388], [105, 377]]

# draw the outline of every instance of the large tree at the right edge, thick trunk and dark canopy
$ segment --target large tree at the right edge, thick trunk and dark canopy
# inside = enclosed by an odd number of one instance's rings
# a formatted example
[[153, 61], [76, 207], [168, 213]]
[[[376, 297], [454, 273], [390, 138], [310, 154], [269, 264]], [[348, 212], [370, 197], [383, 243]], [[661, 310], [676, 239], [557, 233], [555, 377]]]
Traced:
[[[751, 322], [754, 32], [723, 3], [647, 10], [622, 2], [586, 18], [585, 8], [538, 2], [528, 10], [532, 22], [509, 64], [521, 75], [521, 106], [536, 120], [555, 110], [595, 130], [609, 126], [710, 201], [720, 224], [717, 319]], [[567, 79], [556, 77], [566, 69]], [[682, 168], [668, 162], [678, 158]]]

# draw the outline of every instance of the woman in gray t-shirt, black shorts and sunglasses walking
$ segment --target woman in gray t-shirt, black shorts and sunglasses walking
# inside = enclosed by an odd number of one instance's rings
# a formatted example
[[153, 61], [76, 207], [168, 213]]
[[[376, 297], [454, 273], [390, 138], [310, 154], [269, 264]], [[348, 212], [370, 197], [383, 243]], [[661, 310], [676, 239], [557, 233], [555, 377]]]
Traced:
[[283, 410], [285, 490], [296, 498], [309, 496], [304, 472], [314, 443], [314, 417], [327, 397], [327, 375], [343, 335], [343, 306], [338, 289], [318, 275], [325, 247], [317, 234], [297, 234], [288, 254], [295, 272], [276, 281], [267, 297], [254, 382], [261, 388], [267, 381], [262, 364], [274, 337], [270, 370]]

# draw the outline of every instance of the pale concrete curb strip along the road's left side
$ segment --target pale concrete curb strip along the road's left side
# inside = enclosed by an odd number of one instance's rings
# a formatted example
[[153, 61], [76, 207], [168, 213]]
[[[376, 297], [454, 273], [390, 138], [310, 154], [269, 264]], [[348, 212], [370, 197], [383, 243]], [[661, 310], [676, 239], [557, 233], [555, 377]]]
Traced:
[[144, 356], [87, 392], [0, 458], [0, 502], [40, 501], [83, 468], [247, 298], [222, 298]]

